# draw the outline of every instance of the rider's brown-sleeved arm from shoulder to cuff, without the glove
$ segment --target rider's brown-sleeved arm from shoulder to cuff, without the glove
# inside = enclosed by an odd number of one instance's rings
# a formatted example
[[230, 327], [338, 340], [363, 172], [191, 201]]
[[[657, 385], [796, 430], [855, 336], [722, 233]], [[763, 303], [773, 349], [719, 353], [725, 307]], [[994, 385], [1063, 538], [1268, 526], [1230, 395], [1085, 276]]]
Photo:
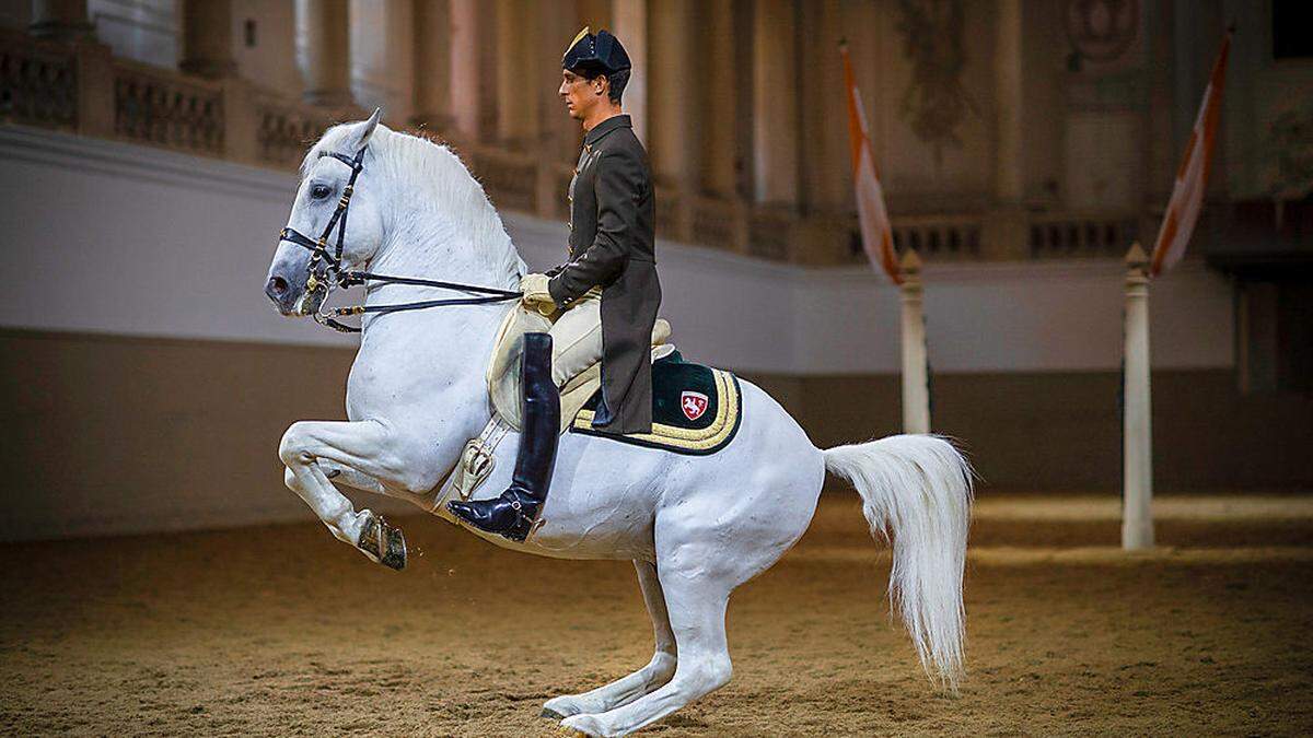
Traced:
[[638, 200], [643, 186], [643, 164], [625, 151], [607, 151], [593, 164], [597, 168], [597, 235], [575, 259], [559, 268], [548, 282], [551, 299], [566, 306], [595, 286], [607, 286], [625, 269], [629, 239], [638, 222]]

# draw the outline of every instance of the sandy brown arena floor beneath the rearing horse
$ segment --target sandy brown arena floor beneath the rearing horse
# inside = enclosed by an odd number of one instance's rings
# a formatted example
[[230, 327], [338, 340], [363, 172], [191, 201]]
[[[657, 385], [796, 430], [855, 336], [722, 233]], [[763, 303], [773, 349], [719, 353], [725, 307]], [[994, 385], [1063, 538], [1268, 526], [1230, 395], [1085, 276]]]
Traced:
[[[1165, 548], [1124, 555], [1116, 498], [983, 498], [949, 699], [889, 622], [888, 550], [827, 496], [735, 594], [730, 685], [649, 731], [1313, 731], [1313, 498], [1158, 516]], [[551, 735], [544, 700], [649, 659], [630, 565], [402, 524], [403, 574], [309, 523], [0, 546], [0, 733]]]

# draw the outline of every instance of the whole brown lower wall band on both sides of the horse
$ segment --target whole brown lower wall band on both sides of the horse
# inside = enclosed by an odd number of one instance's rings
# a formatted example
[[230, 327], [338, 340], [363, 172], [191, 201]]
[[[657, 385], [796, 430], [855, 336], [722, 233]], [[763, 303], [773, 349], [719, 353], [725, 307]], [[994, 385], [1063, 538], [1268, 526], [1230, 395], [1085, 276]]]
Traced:
[[[294, 420], [344, 416], [352, 356], [0, 331], [0, 540], [309, 519], [282, 486], [278, 439]], [[748, 378], [818, 445], [897, 432], [892, 376]], [[1154, 383], [1159, 490], [1313, 486], [1313, 401], [1242, 401], [1226, 370]], [[1111, 492], [1116, 397], [1109, 372], [941, 374], [935, 427], [964, 441], [986, 491]]]

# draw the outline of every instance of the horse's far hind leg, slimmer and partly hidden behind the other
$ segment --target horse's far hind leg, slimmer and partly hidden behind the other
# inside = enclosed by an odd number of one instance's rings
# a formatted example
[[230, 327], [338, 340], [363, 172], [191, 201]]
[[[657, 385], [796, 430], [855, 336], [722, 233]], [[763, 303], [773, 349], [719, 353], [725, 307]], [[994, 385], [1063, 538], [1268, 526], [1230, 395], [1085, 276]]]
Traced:
[[646, 561], [634, 561], [638, 570], [638, 586], [643, 590], [647, 613], [653, 617], [653, 630], [656, 634], [656, 653], [647, 666], [638, 671], [582, 695], [566, 695], [548, 700], [542, 705], [542, 717], [561, 720], [572, 714], [599, 713], [626, 705], [653, 689], [670, 682], [675, 674], [675, 634], [670, 628], [670, 615], [666, 612], [666, 596], [656, 578], [656, 566]]

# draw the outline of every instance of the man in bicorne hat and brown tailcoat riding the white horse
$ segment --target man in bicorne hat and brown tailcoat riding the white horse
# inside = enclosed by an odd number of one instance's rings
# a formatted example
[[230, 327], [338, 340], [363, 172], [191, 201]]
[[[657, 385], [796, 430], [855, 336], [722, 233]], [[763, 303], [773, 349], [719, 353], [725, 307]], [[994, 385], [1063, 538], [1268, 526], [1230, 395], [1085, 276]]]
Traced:
[[520, 281], [523, 301], [555, 315], [550, 334], [524, 336], [524, 412], [511, 486], [502, 496], [452, 502], [461, 520], [523, 541], [548, 496], [557, 456], [558, 387], [601, 361], [592, 427], [651, 431], [651, 332], [660, 306], [647, 152], [620, 106], [632, 64], [605, 30], [579, 32], [561, 59], [561, 89], [583, 123], [570, 181], [570, 260]]

